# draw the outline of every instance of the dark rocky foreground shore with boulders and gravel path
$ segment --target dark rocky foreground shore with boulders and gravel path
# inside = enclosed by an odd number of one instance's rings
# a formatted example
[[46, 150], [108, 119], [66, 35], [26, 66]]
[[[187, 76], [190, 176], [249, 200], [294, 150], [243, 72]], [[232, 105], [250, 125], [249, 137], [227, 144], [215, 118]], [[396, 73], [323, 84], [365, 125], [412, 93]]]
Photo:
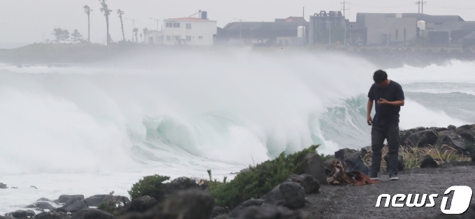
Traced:
[[[436, 200], [434, 208], [375, 208], [380, 194], [439, 194], [450, 186], [470, 186], [475, 181], [475, 125], [447, 128], [414, 128], [400, 131], [401, 155], [398, 169], [400, 181], [381, 177], [379, 183], [354, 186], [340, 181], [331, 186], [328, 179], [335, 176], [332, 165], [341, 160], [345, 172], [367, 174], [369, 146], [342, 149], [328, 160], [316, 153], [302, 158], [304, 174], [292, 174], [263, 197], [254, 197], [233, 209], [216, 206], [210, 194], [210, 181], [196, 181], [187, 177], [173, 179], [158, 196], [129, 197], [94, 195], [61, 195], [58, 199], [41, 198], [19, 210], [0, 216], [0, 219], [89, 219], [89, 218], [475, 218], [475, 199], [460, 216], [443, 216]], [[417, 150], [432, 149], [444, 156], [425, 154], [416, 165], [409, 167], [410, 157]], [[460, 160], [463, 158], [465, 160]], [[459, 159], [459, 160], [458, 160]], [[334, 168], [333, 168], [334, 169]], [[243, 170], [253, 171], [252, 169]], [[381, 173], [383, 176], [383, 173]], [[210, 177], [211, 178], [211, 177]], [[334, 181], [333, 181], [334, 182]], [[342, 186], [345, 185], [345, 186]], [[8, 189], [0, 183], [0, 188]], [[36, 214], [35, 211], [40, 213]]]

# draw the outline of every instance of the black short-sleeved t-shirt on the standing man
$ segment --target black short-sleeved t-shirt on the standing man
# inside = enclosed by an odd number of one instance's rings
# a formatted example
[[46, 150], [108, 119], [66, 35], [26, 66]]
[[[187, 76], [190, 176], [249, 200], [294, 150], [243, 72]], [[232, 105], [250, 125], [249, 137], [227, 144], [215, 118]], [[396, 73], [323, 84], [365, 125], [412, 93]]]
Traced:
[[389, 102], [396, 100], [404, 100], [404, 92], [402, 91], [402, 86], [395, 81], [390, 81], [388, 86], [382, 88], [378, 84], [373, 84], [368, 93], [368, 98], [374, 100], [374, 109], [376, 114], [373, 118], [374, 126], [391, 126], [396, 123], [399, 123], [399, 112], [401, 110], [400, 106], [392, 105], [379, 105], [377, 100], [383, 98]]

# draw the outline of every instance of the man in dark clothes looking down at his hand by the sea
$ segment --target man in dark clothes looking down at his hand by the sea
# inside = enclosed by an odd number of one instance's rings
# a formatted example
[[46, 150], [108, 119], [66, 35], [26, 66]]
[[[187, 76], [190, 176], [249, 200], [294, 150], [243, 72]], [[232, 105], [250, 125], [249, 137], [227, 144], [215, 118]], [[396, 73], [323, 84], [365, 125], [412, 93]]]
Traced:
[[[367, 123], [372, 126], [371, 149], [372, 165], [370, 178], [379, 180], [378, 173], [381, 167], [381, 150], [384, 139], [388, 141], [388, 172], [390, 180], [397, 180], [397, 157], [399, 151], [399, 112], [404, 106], [404, 92], [397, 82], [388, 80], [388, 74], [383, 70], [377, 70], [373, 75], [374, 84], [368, 93]], [[375, 103], [374, 119], [371, 118], [371, 110]]]

